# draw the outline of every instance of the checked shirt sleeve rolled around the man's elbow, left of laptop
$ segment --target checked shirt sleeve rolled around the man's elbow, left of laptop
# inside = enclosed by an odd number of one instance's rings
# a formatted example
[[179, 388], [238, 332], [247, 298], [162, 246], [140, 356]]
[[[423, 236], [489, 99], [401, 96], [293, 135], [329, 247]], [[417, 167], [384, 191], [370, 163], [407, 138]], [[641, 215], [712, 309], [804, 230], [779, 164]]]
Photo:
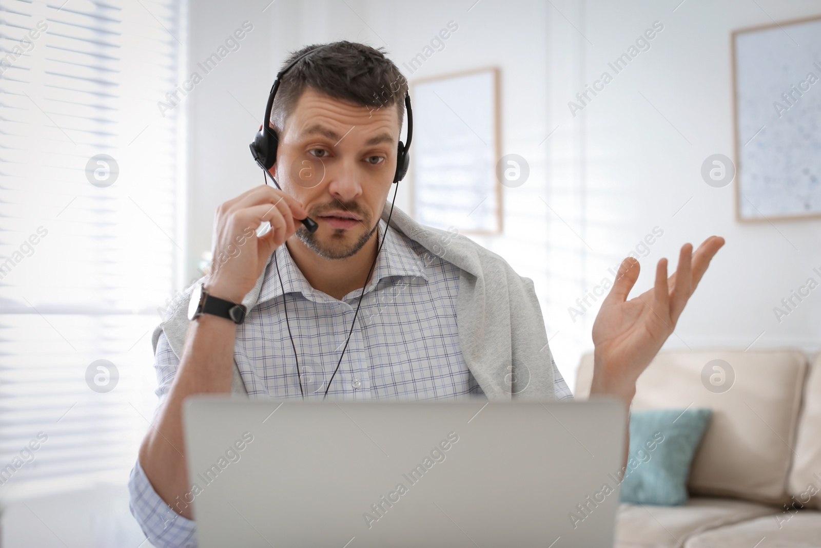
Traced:
[[[183, 518], [157, 495], [140, 461], [128, 478], [128, 506], [149, 542], [157, 548], [196, 548], [196, 523]], [[183, 503], [185, 504], [185, 503]]]

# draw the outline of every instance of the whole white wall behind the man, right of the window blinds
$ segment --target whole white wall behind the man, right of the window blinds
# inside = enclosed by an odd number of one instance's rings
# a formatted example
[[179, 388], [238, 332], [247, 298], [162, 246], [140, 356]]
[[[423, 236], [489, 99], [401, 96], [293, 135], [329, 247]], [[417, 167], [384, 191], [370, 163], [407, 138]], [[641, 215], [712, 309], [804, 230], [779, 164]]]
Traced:
[[[710, 234], [727, 239], [668, 346], [747, 348], [755, 340], [752, 348], [819, 347], [821, 296], [781, 324], [773, 306], [821, 266], [821, 223], [737, 223], [734, 185], [708, 187], [699, 175], [709, 154], [733, 156], [731, 31], [770, 16], [819, 13], [818, 2], [277, 0], [262, 12], [267, 3], [198, 2], [191, 11], [192, 62], [242, 21], [254, 30], [186, 99], [188, 278], [210, 247], [216, 206], [261, 182], [247, 145], [287, 50], [357, 40], [388, 48], [401, 67], [452, 20], [459, 30], [410, 81], [501, 67], [502, 154], [524, 156], [530, 179], [504, 189], [504, 233], [475, 239], [534, 279], [551, 348], [571, 385], [580, 352], [592, 348], [599, 303], [576, 322], [568, 307], [657, 226], [663, 237], [642, 260], [640, 290], [660, 257], [674, 267], [682, 243]], [[650, 50], [572, 117], [567, 102], [654, 21], [664, 30]], [[400, 207], [405, 188], [400, 183]]]

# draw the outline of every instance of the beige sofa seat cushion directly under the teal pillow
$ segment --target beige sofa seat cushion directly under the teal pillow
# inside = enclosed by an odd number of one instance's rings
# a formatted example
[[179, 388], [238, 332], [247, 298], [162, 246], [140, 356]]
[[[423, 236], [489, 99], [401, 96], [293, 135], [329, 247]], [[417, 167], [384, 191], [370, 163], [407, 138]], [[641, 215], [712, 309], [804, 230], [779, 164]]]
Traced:
[[[616, 548], [681, 548], [690, 536], [777, 512], [743, 500], [692, 498], [686, 506], [619, 504]], [[772, 518], [770, 518], [772, 519]], [[747, 546], [752, 548], [754, 543]]]

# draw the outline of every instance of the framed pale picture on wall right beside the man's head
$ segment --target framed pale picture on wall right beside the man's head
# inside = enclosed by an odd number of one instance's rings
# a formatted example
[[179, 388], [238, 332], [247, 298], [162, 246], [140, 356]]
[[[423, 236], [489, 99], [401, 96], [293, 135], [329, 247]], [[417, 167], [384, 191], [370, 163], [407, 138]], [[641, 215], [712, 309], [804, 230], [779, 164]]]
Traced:
[[500, 233], [498, 68], [415, 81], [411, 88], [410, 214], [436, 228]]

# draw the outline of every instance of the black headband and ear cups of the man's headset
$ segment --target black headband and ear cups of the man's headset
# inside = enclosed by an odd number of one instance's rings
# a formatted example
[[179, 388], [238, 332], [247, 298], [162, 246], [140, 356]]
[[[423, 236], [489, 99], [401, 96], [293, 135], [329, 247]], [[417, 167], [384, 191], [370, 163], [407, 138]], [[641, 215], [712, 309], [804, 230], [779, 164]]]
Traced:
[[[277, 145], [279, 145], [279, 138], [273, 127], [270, 127], [270, 120], [271, 110], [273, 108], [273, 99], [277, 96], [277, 90], [279, 89], [279, 84], [282, 81], [282, 76], [284, 76], [287, 71], [290, 71], [291, 68], [302, 59], [309, 57], [310, 55], [318, 52], [320, 49], [327, 47], [328, 46], [326, 45], [311, 49], [288, 63], [287, 67], [284, 67], [281, 71], [277, 72], [277, 78], [273, 81], [271, 91], [268, 93], [268, 104], [265, 105], [265, 117], [263, 120], [262, 129], [257, 131], [254, 141], [249, 145], [251, 155], [254, 156], [254, 159], [256, 163], [259, 164], [259, 167], [263, 168], [265, 171], [268, 171], [268, 169], [270, 169], [277, 161]], [[413, 139], [413, 112], [410, 109], [410, 94], [407, 93], [405, 94], [405, 108], [408, 113], [407, 141], [403, 144], [400, 140], [399, 145], [397, 145], [397, 171], [393, 174], [393, 182], [400, 182], [402, 178], [405, 177], [408, 167], [410, 166], [409, 150], [410, 140]]]

